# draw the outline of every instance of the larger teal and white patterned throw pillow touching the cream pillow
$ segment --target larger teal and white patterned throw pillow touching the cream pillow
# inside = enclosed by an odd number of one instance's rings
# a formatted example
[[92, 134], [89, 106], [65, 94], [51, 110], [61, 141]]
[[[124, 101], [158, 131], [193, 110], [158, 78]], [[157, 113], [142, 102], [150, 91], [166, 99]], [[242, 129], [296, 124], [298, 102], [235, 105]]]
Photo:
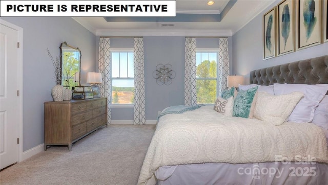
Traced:
[[234, 117], [252, 118], [251, 114], [252, 103], [256, 95], [258, 86], [252, 87], [248, 90], [240, 90], [235, 99], [234, 109], [232, 115]]

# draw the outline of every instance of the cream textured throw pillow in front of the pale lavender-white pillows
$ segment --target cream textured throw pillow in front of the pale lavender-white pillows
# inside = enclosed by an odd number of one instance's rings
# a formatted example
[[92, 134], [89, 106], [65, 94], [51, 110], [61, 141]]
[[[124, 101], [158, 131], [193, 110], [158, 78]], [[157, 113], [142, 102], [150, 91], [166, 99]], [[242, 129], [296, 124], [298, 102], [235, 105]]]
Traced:
[[281, 125], [303, 96], [302, 92], [292, 92], [286, 95], [258, 92], [254, 117], [274, 125]]

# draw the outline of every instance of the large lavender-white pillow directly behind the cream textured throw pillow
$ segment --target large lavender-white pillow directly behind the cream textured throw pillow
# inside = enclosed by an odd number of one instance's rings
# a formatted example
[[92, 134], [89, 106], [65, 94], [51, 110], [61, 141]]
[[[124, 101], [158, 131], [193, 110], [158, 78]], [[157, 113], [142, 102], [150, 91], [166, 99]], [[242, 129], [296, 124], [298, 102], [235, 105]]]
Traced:
[[328, 84], [279, 84], [275, 83], [275, 95], [289, 94], [294, 91], [303, 92], [304, 98], [296, 105], [288, 118], [290, 122], [310, 123], [314, 117], [315, 108], [319, 105], [328, 90]]

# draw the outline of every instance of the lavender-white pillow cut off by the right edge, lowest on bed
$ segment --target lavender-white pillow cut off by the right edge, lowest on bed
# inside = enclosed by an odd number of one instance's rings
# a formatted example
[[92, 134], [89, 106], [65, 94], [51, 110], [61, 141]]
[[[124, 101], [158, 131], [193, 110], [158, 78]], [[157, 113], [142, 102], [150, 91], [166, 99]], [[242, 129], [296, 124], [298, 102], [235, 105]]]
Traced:
[[314, 111], [312, 123], [328, 130], [328, 95], [324, 96]]

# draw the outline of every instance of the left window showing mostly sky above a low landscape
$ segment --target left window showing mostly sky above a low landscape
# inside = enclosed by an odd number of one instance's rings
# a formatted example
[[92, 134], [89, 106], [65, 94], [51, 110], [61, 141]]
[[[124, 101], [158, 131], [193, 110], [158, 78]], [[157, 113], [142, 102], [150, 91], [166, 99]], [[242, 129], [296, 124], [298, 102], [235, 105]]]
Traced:
[[112, 105], [134, 103], [133, 50], [112, 51]]

